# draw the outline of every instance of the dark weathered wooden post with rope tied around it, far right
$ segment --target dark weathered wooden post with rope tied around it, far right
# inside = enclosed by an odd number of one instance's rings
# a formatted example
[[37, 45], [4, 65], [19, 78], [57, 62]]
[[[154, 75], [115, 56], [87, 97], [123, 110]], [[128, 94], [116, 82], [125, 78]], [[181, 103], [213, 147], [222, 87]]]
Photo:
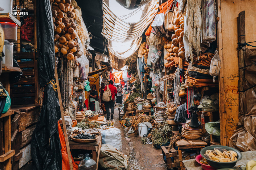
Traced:
[[[238, 15], [238, 43], [245, 43], [245, 11], [242, 11]], [[243, 47], [245, 48], [245, 47]], [[238, 81], [238, 90], [244, 91], [244, 50], [239, 49], [238, 51], [238, 61], [239, 61], [239, 81]], [[244, 92], [239, 92], [239, 101], [243, 96]], [[240, 102], [239, 102], [240, 103]], [[239, 110], [241, 106], [239, 104]]]

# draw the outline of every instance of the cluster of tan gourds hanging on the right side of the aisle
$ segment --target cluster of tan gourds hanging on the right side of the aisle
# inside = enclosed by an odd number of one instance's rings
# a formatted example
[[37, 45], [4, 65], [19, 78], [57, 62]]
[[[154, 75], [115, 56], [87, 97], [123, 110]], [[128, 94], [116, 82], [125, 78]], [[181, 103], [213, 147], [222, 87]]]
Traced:
[[[174, 32], [171, 37], [163, 37], [164, 48], [167, 49], [167, 54], [164, 59], [167, 60], [165, 67], [169, 67], [173, 57], [185, 58], [185, 49], [183, 44], [184, 36], [184, 16], [179, 15], [179, 12], [175, 14], [176, 18], [173, 20], [173, 24], [168, 25], [168, 31]], [[168, 65], [169, 64], [169, 65]]]

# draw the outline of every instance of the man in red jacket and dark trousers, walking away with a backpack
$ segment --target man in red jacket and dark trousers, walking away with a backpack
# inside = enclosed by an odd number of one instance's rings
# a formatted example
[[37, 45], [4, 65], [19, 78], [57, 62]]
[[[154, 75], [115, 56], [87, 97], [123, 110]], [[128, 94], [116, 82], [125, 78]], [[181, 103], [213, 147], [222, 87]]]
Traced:
[[[109, 120], [110, 114], [111, 114], [111, 119], [113, 120], [114, 118], [114, 110], [115, 110], [115, 96], [117, 96], [117, 90], [116, 87], [113, 85], [114, 82], [112, 80], [108, 81], [108, 87], [106, 86], [104, 91], [107, 89], [111, 90], [111, 96], [112, 100], [109, 102], [105, 102], [106, 105], [106, 112], [107, 112], [107, 120]], [[109, 108], [111, 109], [111, 113], [109, 113]]]

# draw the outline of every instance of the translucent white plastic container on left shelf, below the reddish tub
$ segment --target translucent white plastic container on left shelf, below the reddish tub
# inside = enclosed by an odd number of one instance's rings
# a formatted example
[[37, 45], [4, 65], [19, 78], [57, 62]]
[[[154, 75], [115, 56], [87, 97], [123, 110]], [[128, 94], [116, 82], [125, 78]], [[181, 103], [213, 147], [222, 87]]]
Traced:
[[2, 61], [2, 67], [4, 66], [13, 66], [13, 43], [10, 43], [7, 40], [4, 40], [4, 57]]

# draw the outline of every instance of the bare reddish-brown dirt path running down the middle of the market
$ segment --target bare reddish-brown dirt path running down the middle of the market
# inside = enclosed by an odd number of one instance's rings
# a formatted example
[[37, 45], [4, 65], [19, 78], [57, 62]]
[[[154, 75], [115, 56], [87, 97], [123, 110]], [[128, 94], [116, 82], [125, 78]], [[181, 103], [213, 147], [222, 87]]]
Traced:
[[[128, 156], [130, 170], [163, 170], [166, 164], [162, 151], [152, 148], [152, 145], [143, 145], [140, 137], [134, 133], [128, 134], [130, 127], [124, 128], [119, 122], [118, 110], [114, 111], [115, 126], [122, 133], [122, 152]], [[130, 138], [129, 138], [130, 137]]]

